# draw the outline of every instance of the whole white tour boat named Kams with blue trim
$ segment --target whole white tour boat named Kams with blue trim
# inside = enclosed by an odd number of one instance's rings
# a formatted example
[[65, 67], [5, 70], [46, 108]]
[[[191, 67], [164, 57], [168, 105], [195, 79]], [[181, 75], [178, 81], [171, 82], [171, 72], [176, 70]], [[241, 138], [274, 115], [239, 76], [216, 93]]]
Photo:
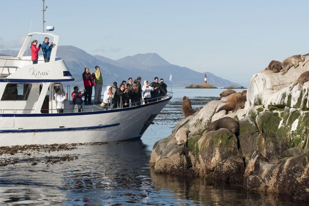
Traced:
[[[54, 42], [50, 62], [39, 56], [38, 64], [32, 64], [31, 54], [24, 56], [33, 35], [40, 36], [37, 40], [49, 36]], [[56, 57], [58, 39], [58, 35], [51, 33], [30, 33], [17, 57], [0, 57], [0, 146], [140, 138], [172, 93], [159, 101], [122, 109], [83, 105], [83, 112], [79, 113], [73, 112], [68, 98], [64, 101], [64, 113], [58, 114], [55, 89], [60, 88], [64, 95], [61, 82], [74, 81], [64, 60]], [[73, 91], [68, 92], [70, 97]]]

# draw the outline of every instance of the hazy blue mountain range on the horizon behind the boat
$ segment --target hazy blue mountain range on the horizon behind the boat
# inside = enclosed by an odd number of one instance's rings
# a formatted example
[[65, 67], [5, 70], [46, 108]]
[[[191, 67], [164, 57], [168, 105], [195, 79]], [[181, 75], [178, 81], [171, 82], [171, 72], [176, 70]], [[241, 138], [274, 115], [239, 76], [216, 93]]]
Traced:
[[[0, 50], [0, 55], [17, 55], [19, 51], [15, 50]], [[27, 51], [30, 55], [30, 49]], [[40, 50], [39, 55], [43, 55]], [[99, 55], [91, 55], [82, 49], [74, 46], [58, 46], [57, 56], [63, 58], [66, 65], [69, 67], [75, 82], [71, 85], [82, 84], [82, 73], [85, 67], [89, 70], [95, 71], [95, 66], [99, 66], [103, 75], [103, 84], [112, 85], [114, 81], [121, 83], [122, 80], [128, 81], [129, 77], [136, 79], [138, 76], [142, 77], [142, 84], [144, 80], [153, 82], [155, 77], [163, 78], [165, 84], [169, 87], [170, 72], [173, 77], [172, 86], [182, 87], [189, 84], [204, 83], [204, 75], [207, 75], [207, 83], [216, 87], [226, 86], [241, 86], [229, 80], [222, 79], [210, 72], [197, 72], [187, 67], [180, 67], [170, 64], [165, 59], [156, 53], [136, 54], [127, 56], [118, 60], [112, 60]]]

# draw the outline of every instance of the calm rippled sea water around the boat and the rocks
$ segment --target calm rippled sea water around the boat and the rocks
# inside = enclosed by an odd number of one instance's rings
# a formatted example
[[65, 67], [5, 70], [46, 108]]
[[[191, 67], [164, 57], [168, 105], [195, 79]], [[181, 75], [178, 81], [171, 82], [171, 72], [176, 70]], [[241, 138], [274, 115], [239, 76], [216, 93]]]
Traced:
[[[155, 142], [170, 135], [183, 117], [183, 96], [189, 97], [193, 109], [197, 109], [219, 97], [223, 90], [172, 88], [173, 99], [140, 140], [20, 154], [24, 159], [19, 163], [0, 167], [0, 204], [306, 205], [291, 202], [286, 195], [250, 193], [237, 184], [156, 174], [149, 167]], [[43, 161], [46, 157], [66, 155], [78, 158], [56, 163]], [[32, 165], [33, 159], [36, 165]]]

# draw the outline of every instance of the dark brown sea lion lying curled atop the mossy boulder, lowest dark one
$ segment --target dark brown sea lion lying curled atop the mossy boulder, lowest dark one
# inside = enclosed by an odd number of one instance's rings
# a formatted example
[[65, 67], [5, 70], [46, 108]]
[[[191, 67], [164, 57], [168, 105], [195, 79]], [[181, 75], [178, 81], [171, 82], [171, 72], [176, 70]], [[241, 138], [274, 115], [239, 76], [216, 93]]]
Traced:
[[221, 128], [226, 128], [230, 132], [236, 134], [239, 131], [239, 123], [231, 117], [222, 117], [209, 125], [208, 131], [216, 131]]

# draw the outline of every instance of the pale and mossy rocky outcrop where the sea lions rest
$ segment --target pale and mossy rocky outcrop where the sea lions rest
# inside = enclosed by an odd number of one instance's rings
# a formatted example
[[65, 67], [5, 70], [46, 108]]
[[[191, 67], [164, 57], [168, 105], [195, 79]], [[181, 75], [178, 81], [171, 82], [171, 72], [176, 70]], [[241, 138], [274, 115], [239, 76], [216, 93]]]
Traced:
[[[309, 57], [286, 75], [263, 70], [249, 82], [244, 109], [215, 113], [228, 97], [209, 102], [175, 126], [153, 148], [155, 172], [242, 182], [250, 191], [271, 191], [309, 201], [309, 82], [301, 91], [289, 87], [304, 71]], [[239, 132], [207, 131], [211, 122], [235, 118]], [[187, 145], [177, 145], [176, 131], [190, 130]]]

